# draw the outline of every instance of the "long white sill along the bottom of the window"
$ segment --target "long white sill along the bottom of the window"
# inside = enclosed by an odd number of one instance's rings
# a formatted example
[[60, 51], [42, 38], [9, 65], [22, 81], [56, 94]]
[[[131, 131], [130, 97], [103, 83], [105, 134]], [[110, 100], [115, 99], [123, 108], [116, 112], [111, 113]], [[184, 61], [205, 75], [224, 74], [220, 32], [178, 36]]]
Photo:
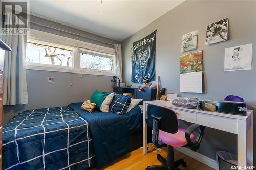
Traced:
[[53, 71], [53, 72], [69, 72], [75, 74], [87, 74], [87, 75], [101, 75], [101, 76], [116, 76], [115, 72], [103, 71], [103, 70], [89, 70], [78, 68], [61, 68], [59, 66], [38, 66], [38, 65], [26, 65], [26, 69], [39, 70], [39, 71]]

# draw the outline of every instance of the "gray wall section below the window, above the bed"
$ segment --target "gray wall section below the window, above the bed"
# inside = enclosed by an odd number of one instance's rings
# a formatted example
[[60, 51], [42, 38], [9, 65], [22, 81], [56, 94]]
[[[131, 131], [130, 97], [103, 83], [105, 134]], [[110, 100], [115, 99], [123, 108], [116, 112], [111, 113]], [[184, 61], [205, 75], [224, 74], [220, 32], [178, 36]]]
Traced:
[[[49, 84], [47, 76], [54, 76], [55, 82]], [[111, 76], [73, 74], [71, 86], [71, 73], [27, 70], [29, 104], [4, 106], [4, 124], [22, 110], [67, 106], [70, 103], [83, 102], [91, 99], [96, 89], [110, 92], [112, 91], [111, 78]]]

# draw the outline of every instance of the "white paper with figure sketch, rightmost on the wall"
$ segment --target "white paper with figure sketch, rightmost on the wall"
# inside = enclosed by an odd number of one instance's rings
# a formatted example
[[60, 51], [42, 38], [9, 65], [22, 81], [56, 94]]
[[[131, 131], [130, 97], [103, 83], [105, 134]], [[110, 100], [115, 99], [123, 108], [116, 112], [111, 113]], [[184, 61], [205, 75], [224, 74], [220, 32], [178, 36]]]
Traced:
[[225, 49], [225, 71], [251, 70], [252, 44]]

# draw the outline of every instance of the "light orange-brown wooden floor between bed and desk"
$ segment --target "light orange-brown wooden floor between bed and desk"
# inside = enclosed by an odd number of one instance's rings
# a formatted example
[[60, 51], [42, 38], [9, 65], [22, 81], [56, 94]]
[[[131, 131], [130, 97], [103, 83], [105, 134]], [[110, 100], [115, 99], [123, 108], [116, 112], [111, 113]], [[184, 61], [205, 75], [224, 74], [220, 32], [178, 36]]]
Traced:
[[[167, 148], [163, 147], [162, 152], [160, 153], [162, 156], [167, 156]], [[128, 169], [136, 169], [136, 170], [144, 170], [147, 166], [150, 165], [159, 165], [161, 164], [156, 157], [157, 153], [149, 151], [146, 155], [142, 153], [142, 148], [139, 148], [135, 151], [132, 151], [130, 153], [127, 153], [126, 155], [121, 156], [114, 162], [110, 163], [109, 166], [106, 166], [102, 169], [105, 170], [128, 170]], [[200, 169], [200, 170], [213, 170], [211, 167], [187, 156], [183, 153], [174, 150], [174, 158], [175, 160], [178, 159], [184, 159], [187, 163], [187, 167], [183, 168], [182, 166], [179, 166], [180, 169], [187, 169], [187, 170], [193, 170], [193, 169]]]

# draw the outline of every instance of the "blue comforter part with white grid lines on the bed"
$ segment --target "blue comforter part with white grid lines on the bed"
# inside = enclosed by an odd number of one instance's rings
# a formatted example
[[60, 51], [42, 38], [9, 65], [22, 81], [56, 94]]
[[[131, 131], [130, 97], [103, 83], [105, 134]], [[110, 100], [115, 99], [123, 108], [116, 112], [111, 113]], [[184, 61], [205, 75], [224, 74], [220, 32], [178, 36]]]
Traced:
[[2, 169], [87, 169], [90, 148], [88, 122], [71, 108], [28, 110], [3, 127]]

